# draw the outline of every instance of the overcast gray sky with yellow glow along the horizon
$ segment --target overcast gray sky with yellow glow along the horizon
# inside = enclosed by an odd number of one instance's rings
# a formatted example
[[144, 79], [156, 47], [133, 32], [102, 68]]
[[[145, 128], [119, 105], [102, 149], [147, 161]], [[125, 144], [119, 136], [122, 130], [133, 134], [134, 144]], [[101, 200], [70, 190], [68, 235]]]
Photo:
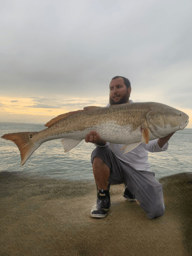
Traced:
[[105, 106], [114, 76], [192, 128], [191, 0], [2, 0], [0, 122]]

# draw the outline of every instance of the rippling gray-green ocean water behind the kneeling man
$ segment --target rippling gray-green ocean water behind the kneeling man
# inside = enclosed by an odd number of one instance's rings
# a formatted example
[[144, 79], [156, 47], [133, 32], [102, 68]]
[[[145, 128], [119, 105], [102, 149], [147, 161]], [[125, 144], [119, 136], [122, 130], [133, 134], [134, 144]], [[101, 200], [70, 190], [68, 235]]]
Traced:
[[[44, 124], [0, 122], [0, 137], [6, 133], [38, 132]], [[192, 172], [192, 129], [178, 131], [169, 140], [166, 152], [148, 153], [151, 170], [157, 180], [164, 176]], [[20, 167], [17, 146], [0, 138], [0, 172], [23, 172], [26, 175], [52, 177], [55, 179], [94, 181], [91, 153], [95, 145], [81, 141], [68, 153], [63, 151], [61, 140], [42, 144]]]

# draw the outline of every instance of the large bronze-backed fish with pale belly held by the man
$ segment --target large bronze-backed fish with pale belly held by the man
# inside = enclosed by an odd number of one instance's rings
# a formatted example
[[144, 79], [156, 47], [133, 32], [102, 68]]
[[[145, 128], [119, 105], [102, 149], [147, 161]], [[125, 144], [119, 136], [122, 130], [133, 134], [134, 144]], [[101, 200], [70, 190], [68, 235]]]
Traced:
[[84, 110], [59, 115], [46, 123], [40, 132], [10, 133], [3, 139], [13, 141], [19, 148], [21, 166], [44, 142], [62, 139], [65, 152], [72, 150], [91, 131], [97, 131], [102, 140], [124, 144], [127, 153], [141, 142], [165, 137], [183, 130], [189, 117], [170, 106], [157, 102], [126, 103], [109, 108], [90, 106]]

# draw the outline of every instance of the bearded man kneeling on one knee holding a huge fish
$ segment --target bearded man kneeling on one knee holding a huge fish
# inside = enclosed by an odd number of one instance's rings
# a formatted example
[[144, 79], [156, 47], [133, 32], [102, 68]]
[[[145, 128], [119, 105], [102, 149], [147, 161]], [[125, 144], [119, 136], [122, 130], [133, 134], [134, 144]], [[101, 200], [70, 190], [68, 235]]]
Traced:
[[[122, 76], [115, 76], [110, 82], [110, 104], [131, 103], [131, 83]], [[110, 105], [108, 104], [108, 106]], [[104, 218], [111, 201], [109, 184], [125, 184], [124, 198], [138, 200], [148, 218], [153, 219], [164, 214], [162, 185], [156, 181], [155, 174], [150, 171], [148, 152], [167, 150], [167, 141], [174, 133], [148, 144], [141, 143], [134, 150], [123, 154], [122, 145], [109, 143], [100, 139], [96, 131], [86, 136], [86, 142], [96, 144], [91, 161], [93, 174], [97, 184], [97, 205], [91, 210], [91, 217]]]

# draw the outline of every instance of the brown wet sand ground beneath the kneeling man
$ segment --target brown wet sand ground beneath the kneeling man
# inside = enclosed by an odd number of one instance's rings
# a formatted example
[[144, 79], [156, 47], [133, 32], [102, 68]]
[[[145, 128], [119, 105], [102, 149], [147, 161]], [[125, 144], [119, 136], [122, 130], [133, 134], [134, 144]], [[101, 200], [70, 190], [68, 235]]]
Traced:
[[164, 216], [149, 220], [123, 199], [123, 185], [114, 185], [108, 216], [93, 219], [93, 182], [1, 172], [0, 255], [192, 255], [192, 173], [160, 182]]

